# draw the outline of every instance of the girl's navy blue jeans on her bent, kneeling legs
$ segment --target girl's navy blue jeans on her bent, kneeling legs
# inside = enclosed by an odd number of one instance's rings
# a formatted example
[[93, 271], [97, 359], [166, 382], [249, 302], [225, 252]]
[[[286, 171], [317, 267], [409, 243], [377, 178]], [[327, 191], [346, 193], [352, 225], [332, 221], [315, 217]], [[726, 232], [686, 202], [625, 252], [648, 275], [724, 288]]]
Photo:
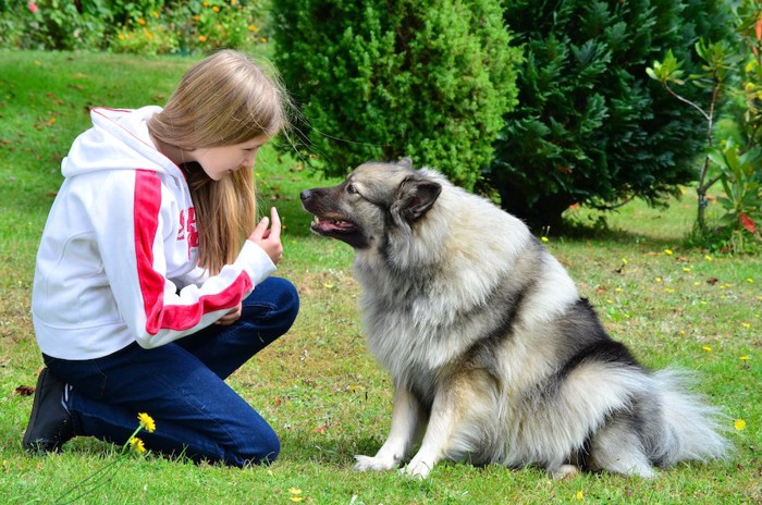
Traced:
[[137, 436], [151, 451], [238, 467], [267, 464], [280, 452], [278, 435], [224, 380], [284, 334], [298, 309], [294, 285], [269, 278], [231, 325], [212, 324], [153, 349], [132, 344], [98, 359], [44, 358], [72, 386], [67, 407], [77, 435], [121, 445], [146, 412], [156, 431]]

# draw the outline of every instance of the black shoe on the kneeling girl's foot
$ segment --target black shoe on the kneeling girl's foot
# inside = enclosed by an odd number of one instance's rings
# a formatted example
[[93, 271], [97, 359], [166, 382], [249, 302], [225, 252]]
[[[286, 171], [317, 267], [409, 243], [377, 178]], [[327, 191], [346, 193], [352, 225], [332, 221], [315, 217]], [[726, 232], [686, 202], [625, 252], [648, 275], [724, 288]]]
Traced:
[[72, 415], [62, 404], [66, 384], [47, 368], [39, 372], [29, 426], [24, 433], [24, 449], [33, 454], [58, 451], [74, 436]]

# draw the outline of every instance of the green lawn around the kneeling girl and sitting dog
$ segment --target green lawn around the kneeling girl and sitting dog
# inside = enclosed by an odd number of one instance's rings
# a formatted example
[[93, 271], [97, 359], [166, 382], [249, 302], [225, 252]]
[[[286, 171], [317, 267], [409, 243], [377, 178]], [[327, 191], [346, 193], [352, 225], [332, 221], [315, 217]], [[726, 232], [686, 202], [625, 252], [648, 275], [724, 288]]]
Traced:
[[[0, 502], [50, 503], [69, 485], [113, 463], [116, 448], [76, 439], [60, 455], [26, 456], [21, 436], [41, 367], [28, 313], [34, 256], [59, 163], [88, 125], [93, 104], [162, 103], [190, 61], [108, 54], [0, 51]], [[56, 121], [50, 121], [56, 118]], [[293, 330], [230, 380], [281, 435], [271, 467], [196, 466], [127, 458], [119, 475], [81, 503], [760, 503], [760, 333], [762, 261], [705, 258], [684, 237], [691, 195], [667, 210], [634, 202], [609, 229], [546, 244], [599, 308], [604, 325], [652, 367], [700, 372], [698, 390], [728, 414], [728, 461], [680, 465], [657, 479], [585, 475], [553, 482], [542, 471], [443, 464], [418, 482], [358, 473], [354, 454], [371, 454], [389, 429], [391, 384], [365, 348], [352, 250], [308, 231], [298, 192], [328, 184], [298, 161], [266, 150], [257, 165], [260, 207], [285, 224], [279, 275], [299, 288]], [[577, 211], [581, 222], [597, 214]], [[669, 249], [672, 255], [664, 250]], [[623, 259], [627, 262], [623, 267]], [[716, 281], [715, 281], [716, 280]], [[710, 350], [711, 349], [711, 350]], [[749, 359], [741, 359], [748, 357]], [[150, 412], [149, 412], [150, 414]], [[737, 431], [735, 419], [747, 428]], [[291, 490], [291, 491], [290, 491]], [[297, 495], [293, 490], [300, 490]]]

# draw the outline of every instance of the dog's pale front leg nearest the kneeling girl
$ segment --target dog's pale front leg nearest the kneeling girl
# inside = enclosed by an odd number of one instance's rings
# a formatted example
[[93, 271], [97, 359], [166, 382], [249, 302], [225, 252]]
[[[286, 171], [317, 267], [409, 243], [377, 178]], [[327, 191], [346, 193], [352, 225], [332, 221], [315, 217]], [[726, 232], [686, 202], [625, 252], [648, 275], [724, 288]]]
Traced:
[[413, 393], [407, 389], [395, 387], [392, 426], [386, 442], [373, 457], [355, 456], [355, 470], [383, 471], [398, 467], [413, 445], [420, 419], [420, 405]]

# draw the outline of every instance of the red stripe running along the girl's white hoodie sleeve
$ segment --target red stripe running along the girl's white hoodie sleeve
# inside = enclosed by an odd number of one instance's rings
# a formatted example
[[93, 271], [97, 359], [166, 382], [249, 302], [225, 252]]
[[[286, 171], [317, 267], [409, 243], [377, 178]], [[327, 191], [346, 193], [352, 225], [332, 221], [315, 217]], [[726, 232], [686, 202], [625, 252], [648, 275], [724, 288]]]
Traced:
[[[164, 306], [164, 278], [153, 269], [153, 241], [159, 226], [161, 181], [156, 172], [138, 170], [135, 177], [135, 255], [137, 274], [146, 311], [146, 331], [184, 331], [195, 327], [205, 313], [235, 307], [251, 288], [251, 280], [242, 272], [223, 292], [201, 296], [195, 304]], [[184, 246], [185, 247], [185, 246]]]

